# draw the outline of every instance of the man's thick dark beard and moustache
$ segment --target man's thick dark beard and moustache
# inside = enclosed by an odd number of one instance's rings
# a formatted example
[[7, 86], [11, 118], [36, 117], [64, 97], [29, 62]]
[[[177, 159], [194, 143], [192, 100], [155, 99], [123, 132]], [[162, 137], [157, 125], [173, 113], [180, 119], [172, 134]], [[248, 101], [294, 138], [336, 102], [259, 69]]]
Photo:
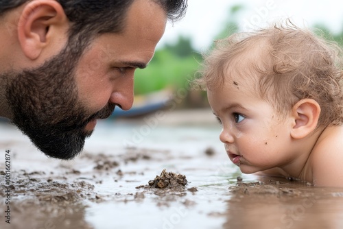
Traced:
[[71, 159], [80, 154], [89, 121], [106, 119], [115, 109], [108, 104], [87, 115], [78, 100], [75, 66], [78, 62], [68, 49], [62, 50], [40, 67], [1, 76], [8, 80], [6, 96], [12, 110], [12, 122], [47, 156]]

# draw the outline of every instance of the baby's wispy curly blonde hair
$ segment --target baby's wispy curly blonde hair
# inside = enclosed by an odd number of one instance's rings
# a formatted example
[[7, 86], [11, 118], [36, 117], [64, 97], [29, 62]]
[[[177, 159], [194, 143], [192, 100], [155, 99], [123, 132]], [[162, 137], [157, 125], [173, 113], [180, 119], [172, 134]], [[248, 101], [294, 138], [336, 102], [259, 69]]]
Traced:
[[[255, 56], [246, 61], [250, 53]], [[321, 108], [317, 127], [343, 123], [342, 48], [289, 21], [216, 41], [202, 67], [202, 77], [195, 81], [202, 88], [215, 91], [228, 80], [228, 72], [254, 72], [258, 95], [280, 114], [310, 98]]]

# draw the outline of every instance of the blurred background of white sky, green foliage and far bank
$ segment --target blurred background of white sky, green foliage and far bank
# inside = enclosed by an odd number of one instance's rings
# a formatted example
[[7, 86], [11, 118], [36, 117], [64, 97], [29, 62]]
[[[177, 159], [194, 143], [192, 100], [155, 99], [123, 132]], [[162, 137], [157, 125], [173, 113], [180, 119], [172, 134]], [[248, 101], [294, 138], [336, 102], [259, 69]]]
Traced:
[[[185, 18], [167, 24], [147, 69], [137, 71], [134, 106], [144, 106], [152, 99], [158, 107], [158, 103], [163, 106], [174, 99], [176, 109], [209, 107], [206, 93], [192, 90], [189, 82], [199, 76], [202, 54], [211, 51], [213, 40], [285, 19], [298, 27], [322, 29], [328, 39], [343, 45], [340, 1], [189, 0]], [[149, 99], [145, 95], [150, 95]]]

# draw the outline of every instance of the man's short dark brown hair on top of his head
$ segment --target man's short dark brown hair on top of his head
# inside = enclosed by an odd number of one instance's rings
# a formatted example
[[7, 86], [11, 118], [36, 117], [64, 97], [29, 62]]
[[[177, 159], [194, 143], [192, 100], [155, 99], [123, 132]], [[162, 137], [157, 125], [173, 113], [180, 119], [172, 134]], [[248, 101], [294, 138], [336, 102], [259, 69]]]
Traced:
[[[0, 16], [30, 0], [0, 0]], [[121, 32], [125, 26], [126, 12], [134, 0], [56, 0], [64, 9], [71, 27], [69, 44], [76, 45], [75, 56], [82, 51], [93, 38], [100, 34]], [[169, 20], [182, 18], [187, 9], [187, 0], [150, 0], [165, 10]], [[73, 45], [72, 45], [73, 46]], [[81, 52], [81, 53], [80, 53]]]

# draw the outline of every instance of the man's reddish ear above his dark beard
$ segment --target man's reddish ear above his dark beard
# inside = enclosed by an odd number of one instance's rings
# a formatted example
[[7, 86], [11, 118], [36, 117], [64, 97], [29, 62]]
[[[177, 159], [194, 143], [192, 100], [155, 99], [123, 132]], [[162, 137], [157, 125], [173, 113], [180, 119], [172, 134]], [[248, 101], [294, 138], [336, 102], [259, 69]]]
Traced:
[[18, 23], [19, 43], [25, 56], [36, 60], [43, 49], [53, 42], [54, 36], [64, 35], [59, 30], [67, 22], [67, 16], [58, 1], [29, 1]]

